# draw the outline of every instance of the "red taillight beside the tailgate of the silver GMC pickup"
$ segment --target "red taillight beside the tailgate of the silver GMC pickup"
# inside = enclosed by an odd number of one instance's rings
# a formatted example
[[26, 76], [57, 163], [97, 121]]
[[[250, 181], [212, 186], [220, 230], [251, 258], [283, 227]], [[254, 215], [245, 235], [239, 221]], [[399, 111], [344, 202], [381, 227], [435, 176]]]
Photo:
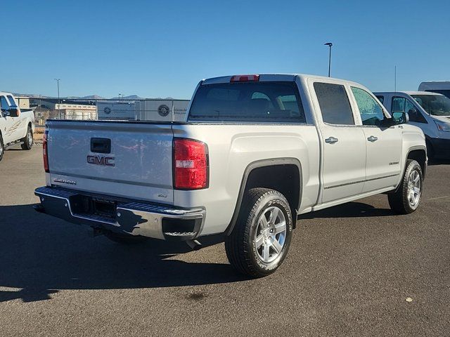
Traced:
[[208, 187], [205, 143], [184, 138], [174, 139], [174, 187], [181, 190]]

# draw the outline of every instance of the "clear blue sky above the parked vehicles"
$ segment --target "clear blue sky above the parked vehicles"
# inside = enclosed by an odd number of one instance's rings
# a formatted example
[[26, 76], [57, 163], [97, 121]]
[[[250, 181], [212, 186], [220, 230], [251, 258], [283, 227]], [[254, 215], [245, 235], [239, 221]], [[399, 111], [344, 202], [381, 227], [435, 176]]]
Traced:
[[191, 98], [200, 79], [450, 80], [450, 1], [4, 1], [0, 90]]

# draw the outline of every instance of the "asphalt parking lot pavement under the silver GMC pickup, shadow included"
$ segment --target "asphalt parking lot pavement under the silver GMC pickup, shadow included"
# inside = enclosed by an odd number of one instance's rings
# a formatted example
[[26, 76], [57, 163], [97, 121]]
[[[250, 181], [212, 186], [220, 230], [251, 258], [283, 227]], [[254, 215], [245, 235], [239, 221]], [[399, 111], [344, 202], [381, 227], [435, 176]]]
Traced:
[[223, 244], [121, 246], [34, 212], [41, 147], [0, 171], [0, 336], [449, 336], [449, 164], [412, 215], [379, 195], [303, 216], [264, 279]]

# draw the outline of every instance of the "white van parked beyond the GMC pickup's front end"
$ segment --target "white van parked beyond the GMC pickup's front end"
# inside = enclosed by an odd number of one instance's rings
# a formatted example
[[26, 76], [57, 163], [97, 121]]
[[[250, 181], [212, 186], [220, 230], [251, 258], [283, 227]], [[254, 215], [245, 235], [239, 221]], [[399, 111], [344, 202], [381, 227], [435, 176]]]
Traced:
[[374, 93], [387, 111], [408, 112], [425, 133], [428, 158], [450, 159], [450, 98], [428, 91]]

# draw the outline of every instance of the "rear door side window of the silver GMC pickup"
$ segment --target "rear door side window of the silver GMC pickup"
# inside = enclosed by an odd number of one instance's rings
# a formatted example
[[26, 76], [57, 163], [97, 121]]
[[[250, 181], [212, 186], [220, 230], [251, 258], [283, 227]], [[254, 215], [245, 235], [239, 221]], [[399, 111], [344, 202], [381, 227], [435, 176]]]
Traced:
[[354, 125], [352, 107], [345, 87], [340, 84], [314, 83], [322, 119], [328, 124]]

